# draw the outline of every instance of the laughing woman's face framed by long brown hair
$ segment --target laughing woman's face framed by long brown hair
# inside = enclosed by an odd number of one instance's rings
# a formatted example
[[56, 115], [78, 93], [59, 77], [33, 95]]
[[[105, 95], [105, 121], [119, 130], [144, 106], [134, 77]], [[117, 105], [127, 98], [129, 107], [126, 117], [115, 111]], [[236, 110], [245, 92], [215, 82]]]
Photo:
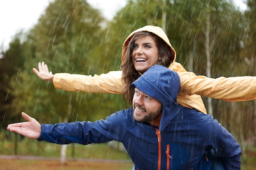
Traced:
[[137, 71], [144, 73], [160, 60], [157, 45], [152, 36], [139, 37], [135, 40], [132, 51], [132, 62]]

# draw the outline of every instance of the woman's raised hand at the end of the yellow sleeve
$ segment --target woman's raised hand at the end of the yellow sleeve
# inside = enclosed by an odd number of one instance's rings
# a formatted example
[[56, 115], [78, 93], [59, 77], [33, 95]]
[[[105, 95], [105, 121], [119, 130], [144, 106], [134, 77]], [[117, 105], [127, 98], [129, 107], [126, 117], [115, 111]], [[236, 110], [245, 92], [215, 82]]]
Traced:
[[49, 72], [48, 67], [44, 62], [42, 62], [42, 64], [38, 63], [38, 70], [36, 68], [33, 68], [34, 73], [40, 79], [50, 82], [53, 81], [54, 74], [52, 74], [52, 71]]

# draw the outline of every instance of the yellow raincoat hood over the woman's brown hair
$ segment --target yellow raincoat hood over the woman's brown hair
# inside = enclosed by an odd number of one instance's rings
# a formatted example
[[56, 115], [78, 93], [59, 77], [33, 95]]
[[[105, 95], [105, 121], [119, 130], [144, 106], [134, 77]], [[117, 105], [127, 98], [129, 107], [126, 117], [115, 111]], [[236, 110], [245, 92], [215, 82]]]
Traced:
[[124, 44], [123, 44], [123, 50], [122, 50], [122, 62], [123, 62], [123, 57], [124, 57], [124, 54], [126, 53], [126, 50], [127, 50], [127, 46], [130, 42], [130, 40], [132, 39], [132, 36], [137, 33], [137, 32], [140, 32], [140, 31], [148, 31], [148, 32], [151, 32], [151, 33], [154, 33], [155, 35], [159, 36], [160, 38], [162, 38], [166, 44], [168, 44], [168, 46], [170, 46], [170, 49], [171, 49], [171, 52], [173, 53], [174, 55], [174, 60], [173, 62], [175, 62], [176, 60], [176, 52], [175, 50], [173, 49], [173, 46], [171, 45], [166, 33], [164, 33], [164, 31], [162, 30], [162, 28], [158, 27], [158, 26], [151, 26], [151, 25], [147, 25], [147, 26], [144, 26], [140, 29], [137, 29], [135, 31], [133, 31], [132, 33], [130, 33], [130, 35], [126, 38], [126, 40], [124, 41]]

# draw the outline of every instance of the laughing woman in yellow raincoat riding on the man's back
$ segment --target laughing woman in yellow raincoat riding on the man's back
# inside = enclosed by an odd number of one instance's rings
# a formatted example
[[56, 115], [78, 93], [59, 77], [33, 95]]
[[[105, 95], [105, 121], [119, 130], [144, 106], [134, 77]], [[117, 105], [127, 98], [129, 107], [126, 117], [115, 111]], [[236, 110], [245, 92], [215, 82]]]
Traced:
[[[146, 35], [143, 35], [142, 32], [146, 32]], [[140, 37], [146, 38], [148, 36], [151, 36], [155, 45], [157, 45], [157, 54], [148, 54], [145, 57], [146, 47], [143, 51], [136, 54], [135, 51], [137, 51], [138, 44], [135, 41]], [[138, 58], [136, 58], [137, 61], [134, 60], [135, 55]], [[140, 57], [138, 57], [139, 55]], [[151, 57], [155, 57], [154, 62], [151, 61]], [[39, 71], [36, 68], [33, 68], [33, 71], [41, 79], [53, 82], [55, 88], [90, 93], [122, 93], [126, 102], [131, 103], [134, 89], [130, 82], [137, 79], [139, 74], [147, 69], [146, 67], [140, 68], [139, 64], [148, 64], [149, 68], [157, 63], [168, 66], [179, 74], [181, 89], [177, 102], [182, 106], [195, 108], [202, 113], [207, 113], [200, 96], [222, 99], [229, 102], [256, 99], [256, 77], [219, 77], [213, 79], [197, 76], [192, 72], [187, 72], [180, 63], [175, 62], [175, 59], [176, 52], [164, 31], [160, 27], [148, 25], [133, 31], [126, 38], [122, 51], [122, 71], [110, 71], [107, 74], [94, 76], [68, 73], [53, 75], [48, 71], [47, 65], [44, 63], [38, 64]]]

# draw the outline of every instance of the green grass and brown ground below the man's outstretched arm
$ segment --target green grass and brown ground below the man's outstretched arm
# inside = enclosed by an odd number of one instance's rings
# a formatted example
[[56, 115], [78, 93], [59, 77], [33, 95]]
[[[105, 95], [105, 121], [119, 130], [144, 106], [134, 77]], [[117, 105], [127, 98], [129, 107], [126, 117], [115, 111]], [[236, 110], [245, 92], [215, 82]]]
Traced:
[[1, 155], [9, 156], [8, 159], [0, 157], [0, 170], [132, 170], [133, 167], [126, 151], [117, 150], [108, 144], [67, 145], [67, 161], [62, 165], [61, 145], [18, 138], [18, 156], [14, 156], [14, 142], [0, 141]]

